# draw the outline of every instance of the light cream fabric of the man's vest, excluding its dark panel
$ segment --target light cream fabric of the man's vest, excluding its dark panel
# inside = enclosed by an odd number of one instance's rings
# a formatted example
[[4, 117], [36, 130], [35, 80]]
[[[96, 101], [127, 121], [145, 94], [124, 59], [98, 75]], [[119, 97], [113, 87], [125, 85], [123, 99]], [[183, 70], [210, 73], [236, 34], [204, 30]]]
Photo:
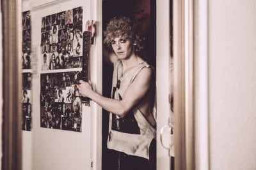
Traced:
[[[122, 75], [122, 62], [118, 60], [114, 65], [113, 81], [112, 81], [112, 93], [113, 87], [115, 87], [118, 80], [120, 80], [120, 88], [116, 89], [114, 98], [119, 99], [124, 96], [125, 90], [136, 78], [138, 73], [143, 69], [143, 67], [150, 67], [147, 62], [142, 62], [138, 66], [133, 67], [127, 71], [124, 76]], [[143, 113], [138, 108], [132, 110], [134, 118], [138, 122], [140, 128], [140, 134], [129, 134], [124, 132], [113, 131], [112, 127], [112, 117], [114, 114], [109, 115], [109, 138], [108, 138], [108, 148], [117, 150], [119, 152], [127, 153], [128, 155], [135, 155], [138, 157], [143, 157], [149, 159], [149, 146], [152, 139], [156, 138], [156, 129], [152, 127], [144, 117]]]

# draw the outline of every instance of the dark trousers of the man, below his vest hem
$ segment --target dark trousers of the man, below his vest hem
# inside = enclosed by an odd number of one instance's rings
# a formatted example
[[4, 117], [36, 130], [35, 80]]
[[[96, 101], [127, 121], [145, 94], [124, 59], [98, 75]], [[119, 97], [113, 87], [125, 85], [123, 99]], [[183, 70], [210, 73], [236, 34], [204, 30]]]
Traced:
[[156, 170], [155, 139], [150, 143], [149, 160], [115, 150], [108, 150], [108, 152], [108, 170]]

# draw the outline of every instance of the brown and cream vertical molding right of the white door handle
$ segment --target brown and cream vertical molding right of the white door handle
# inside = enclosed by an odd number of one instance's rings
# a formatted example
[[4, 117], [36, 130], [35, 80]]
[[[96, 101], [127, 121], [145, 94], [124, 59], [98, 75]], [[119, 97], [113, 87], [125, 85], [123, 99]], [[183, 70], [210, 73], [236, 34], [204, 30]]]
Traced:
[[173, 0], [175, 170], [195, 169], [193, 5]]

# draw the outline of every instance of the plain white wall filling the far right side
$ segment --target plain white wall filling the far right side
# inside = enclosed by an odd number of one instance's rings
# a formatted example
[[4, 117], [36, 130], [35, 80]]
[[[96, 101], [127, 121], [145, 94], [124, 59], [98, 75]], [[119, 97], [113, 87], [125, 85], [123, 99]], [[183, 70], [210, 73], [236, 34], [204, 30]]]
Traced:
[[209, 1], [211, 170], [256, 168], [256, 1]]

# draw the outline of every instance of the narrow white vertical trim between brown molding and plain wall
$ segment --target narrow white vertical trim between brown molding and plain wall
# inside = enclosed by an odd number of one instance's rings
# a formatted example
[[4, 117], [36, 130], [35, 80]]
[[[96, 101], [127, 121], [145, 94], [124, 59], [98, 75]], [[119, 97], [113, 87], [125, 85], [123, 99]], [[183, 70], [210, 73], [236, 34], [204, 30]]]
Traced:
[[209, 169], [208, 1], [195, 0], [195, 159]]

